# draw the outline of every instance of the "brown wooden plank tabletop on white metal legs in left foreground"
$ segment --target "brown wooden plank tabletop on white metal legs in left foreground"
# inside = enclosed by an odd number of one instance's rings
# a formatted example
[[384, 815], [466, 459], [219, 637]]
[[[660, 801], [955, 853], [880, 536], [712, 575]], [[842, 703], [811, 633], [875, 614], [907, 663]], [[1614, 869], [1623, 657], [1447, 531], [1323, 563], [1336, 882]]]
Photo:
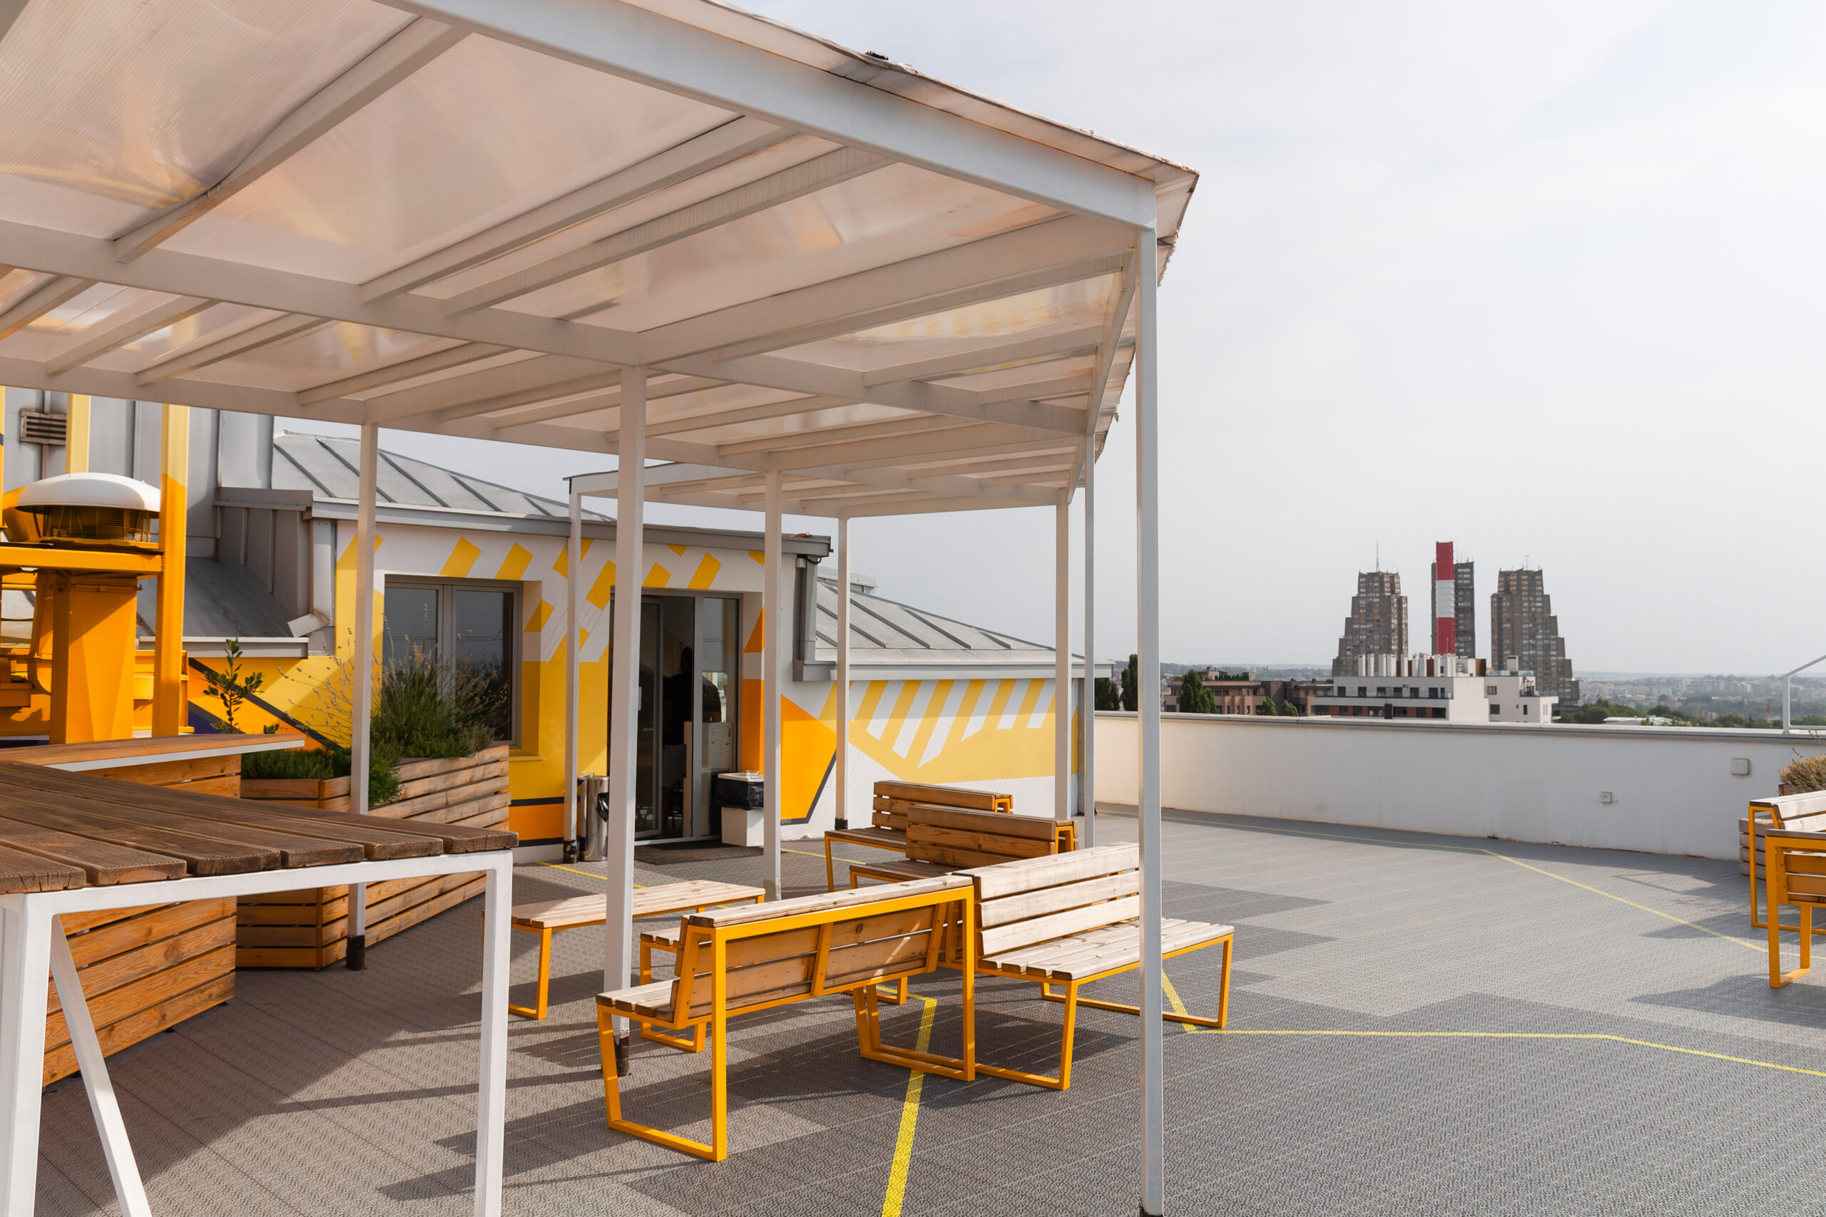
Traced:
[[274, 808], [0, 759], [0, 894], [471, 854], [517, 843], [519, 836], [502, 828]]

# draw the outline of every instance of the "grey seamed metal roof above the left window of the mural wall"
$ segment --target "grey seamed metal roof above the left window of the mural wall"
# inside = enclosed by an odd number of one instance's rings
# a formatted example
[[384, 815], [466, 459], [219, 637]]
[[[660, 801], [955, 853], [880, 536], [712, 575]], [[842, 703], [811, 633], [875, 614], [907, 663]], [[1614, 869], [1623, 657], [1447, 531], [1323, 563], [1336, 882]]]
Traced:
[[[356, 440], [281, 431], [274, 436], [272, 449], [274, 489], [310, 491], [314, 498], [356, 500], [362, 467], [362, 445]], [[382, 504], [402, 507], [495, 511], [509, 516], [550, 516], [553, 520], [566, 520], [570, 511], [557, 498], [528, 494], [387, 451], [380, 454], [376, 491]], [[588, 520], [610, 518], [590, 509], [584, 509], [582, 515]]]

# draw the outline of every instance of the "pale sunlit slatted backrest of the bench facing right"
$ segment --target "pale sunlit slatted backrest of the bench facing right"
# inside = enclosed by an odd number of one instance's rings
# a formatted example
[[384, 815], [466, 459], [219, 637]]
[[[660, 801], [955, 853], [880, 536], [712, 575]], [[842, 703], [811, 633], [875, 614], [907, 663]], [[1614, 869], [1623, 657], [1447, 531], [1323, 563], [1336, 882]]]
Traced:
[[975, 889], [979, 958], [1141, 916], [1136, 845], [1097, 845], [959, 874], [968, 874]]

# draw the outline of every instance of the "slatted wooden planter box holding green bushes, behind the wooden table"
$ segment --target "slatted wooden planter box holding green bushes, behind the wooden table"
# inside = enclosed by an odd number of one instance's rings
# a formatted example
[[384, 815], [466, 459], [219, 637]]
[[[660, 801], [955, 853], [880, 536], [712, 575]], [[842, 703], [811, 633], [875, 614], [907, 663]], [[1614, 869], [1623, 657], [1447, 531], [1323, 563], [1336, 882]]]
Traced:
[[[493, 828], [508, 821], [508, 746], [467, 757], [400, 761], [400, 797], [371, 816], [435, 819]], [[245, 779], [243, 799], [349, 810], [349, 779]], [[484, 889], [482, 872], [389, 879], [367, 885], [367, 945], [373, 947]], [[349, 951], [349, 889], [243, 896], [236, 910], [236, 967], [327, 967]]]

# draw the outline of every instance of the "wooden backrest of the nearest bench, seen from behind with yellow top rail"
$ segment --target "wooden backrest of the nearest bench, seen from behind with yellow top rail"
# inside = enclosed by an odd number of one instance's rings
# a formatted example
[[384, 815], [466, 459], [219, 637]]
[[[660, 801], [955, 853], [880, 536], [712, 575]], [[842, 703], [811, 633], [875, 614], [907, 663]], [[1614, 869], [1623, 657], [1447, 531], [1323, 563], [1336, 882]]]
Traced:
[[929, 973], [942, 940], [937, 931], [970, 890], [970, 879], [946, 876], [690, 914], [674, 1009], [690, 985], [690, 1016], [710, 1013], [718, 940], [730, 1013]]

